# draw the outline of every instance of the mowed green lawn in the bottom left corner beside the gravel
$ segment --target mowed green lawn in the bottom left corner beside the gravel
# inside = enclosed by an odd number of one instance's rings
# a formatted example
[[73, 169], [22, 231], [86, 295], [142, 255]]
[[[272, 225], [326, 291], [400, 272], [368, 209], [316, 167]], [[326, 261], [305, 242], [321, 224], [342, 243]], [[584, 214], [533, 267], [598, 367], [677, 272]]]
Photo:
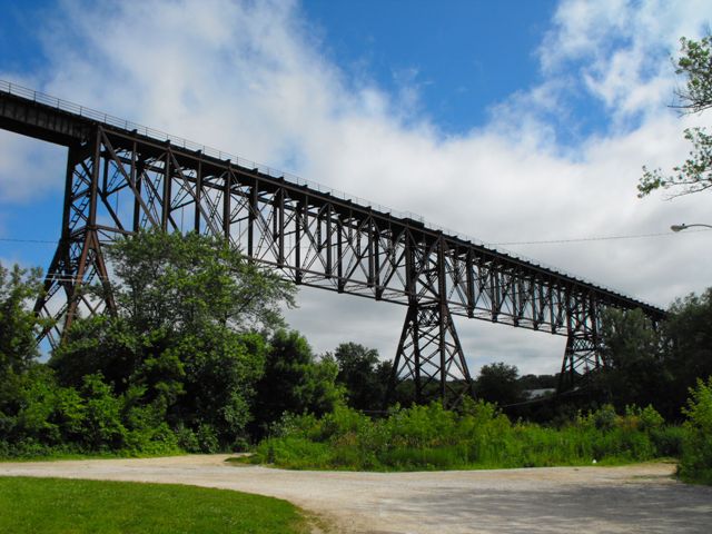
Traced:
[[305, 533], [286, 501], [171, 484], [0, 477], [0, 532]]

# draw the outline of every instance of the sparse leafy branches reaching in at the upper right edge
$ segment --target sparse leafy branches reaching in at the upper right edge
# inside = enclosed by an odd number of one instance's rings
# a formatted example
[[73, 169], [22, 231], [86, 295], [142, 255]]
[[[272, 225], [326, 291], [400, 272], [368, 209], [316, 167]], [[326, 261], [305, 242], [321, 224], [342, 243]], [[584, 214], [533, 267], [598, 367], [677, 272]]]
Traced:
[[[712, 36], [699, 41], [683, 37], [680, 42], [675, 72], [685, 78], [685, 89], [678, 91], [678, 108], [683, 113], [699, 113], [712, 107]], [[682, 165], [673, 167], [672, 175], [643, 167], [639, 197], [660, 188], [675, 189], [678, 192], [672, 197], [712, 188], [712, 136], [704, 128], [688, 128], [685, 139], [692, 144], [692, 150]]]

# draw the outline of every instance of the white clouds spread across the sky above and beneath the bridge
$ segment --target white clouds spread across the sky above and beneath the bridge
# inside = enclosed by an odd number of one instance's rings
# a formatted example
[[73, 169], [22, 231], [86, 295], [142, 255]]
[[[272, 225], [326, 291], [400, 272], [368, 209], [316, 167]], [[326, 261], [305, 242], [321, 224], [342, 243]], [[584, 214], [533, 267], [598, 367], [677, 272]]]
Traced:
[[[641, 166], [681, 159], [681, 129], [701, 120], [664, 108], [673, 83], [668, 57], [710, 8], [668, 3], [562, 2], [540, 50], [543, 82], [494, 106], [488, 125], [462, 136], [443, 136], [414, 115], [417, 91], [407, 83], [392, 96], [367, 80], [346, 82], [293, 2], [68, 2], [47, 38], [49, 66], [33, 75], [47, 92], [287, 166], [485, 241], [649, 234], [709, 212], [701, 196], [635, 197]], [[582, 142], [561, 139], [545, 117], [570, 117], [564, 99], [576, 88], [603, 101], [617, 126]], [[31, 155], [17, 156], [23, 172], [41, 174], [27, 170]], [[708, 284], [700, 265], [712, 256], [702, 239], [516, 249], [664, 306]], [[301, 301], [289, 319], [318, 352], [354, 339], [393, 355], [405, 308], [318, 290], [303, 291]], [[524, 372], [561, 365], [560, 338], [479, 322], [458, 327], [474, 367], [483, 357]]]

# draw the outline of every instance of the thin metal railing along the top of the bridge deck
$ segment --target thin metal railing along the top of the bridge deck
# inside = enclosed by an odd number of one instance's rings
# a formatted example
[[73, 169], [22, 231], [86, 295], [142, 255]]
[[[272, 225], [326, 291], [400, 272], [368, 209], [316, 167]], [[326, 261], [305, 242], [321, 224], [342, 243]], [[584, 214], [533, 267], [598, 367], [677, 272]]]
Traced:
[[412, 219], [412, 220], [416, 220], [418, 222], [421, 222], [425, 228], [434, 230], [434, 231], [442, 231], [444, 235], [446, 236], [452, 236], [452, 237], [456, 237], [458, 239], [462, 239], [464, 241], [468, 241], [473, 245], [477, 245], [477, 246], [482, 246], [485, 248], [488, 248], [493, 251], [496, 251], [498, 254], [504, 254], [511, 258], [514, 259], [520, 259], [522, 261], [526, 261], [527, 264], [534, 265], [536, 267], [540, 267], [542, 269], [546, 269], [550, 271], [553, 271], [557, 275], [562, 275], [562, 276], [566, 276], [568, 278], [572, 278], [578, 283], [582, 284], [589, 284], [591, 286], [595, 286], [596, 288], [603, 289], [605, 291], [615, 294], [615, 295], [621, 295], [619, 291], [611, 289], [602, 284], [597, 284], [594, 281], [591, 281], [589, 279], [585, 278], [580, 278], [577, 276], [564, 273], [551, 265], [546, 265], [542, 261], [538, 261], [536, 259], [532, 259], [528, 258], [526, 256], [523, 256], [518, 253], [514, 253], [512, 250], [507, 250], [505, 248], [502, 247], [497, 247], [496, 249], [487, 243], [482, 241], [481, 239], [474, 238], [472, 236], [468, 236], [466, 234], [462, 234], [459, 231], [455, 231], [453, 229], [449, 228], [445, 228], [443, 226], [439, 225], [435, 225], [433, 222], [429, 222], [427, 220], [425, 220], [425, 218], [423, 218], [422, 216], [414, 214], [413, 211], [399, 211], [399, 210], [395, 210], [393, 208], [389, 208], [387, 206], [383, 206], [380, 204], [376, 204], [373, 202], [368, 199], [358, 197], [356, 195], [349, 195], [346, 194], [344, 191], [339, 191], [337, 189], [333, 189], [330, 187], [324, 186], [323, 184], [318, 184], [316, 181], [312, 181], [312, 180], [306, 180], [304, 178], [300, 178], [296, 175], [289, 174], [289, 172], [284, 172], [281, 170], [271, 168], [269, 166], [266, 165], [261, 165], [261, 164], [256, 164], [255, 161], [250, 161], [248, 159], [241, 158], [239, 156], [235, 156], [233, 154], [229, 152], [225, 152], [222, 150], [217, 150], [215, 148], [205, 146], [205, 145], [200, 145], [194, 141], [190, 141], [188, 139], [184, 139], [181, 137], [178, 136], [172, 136], [170, 134], [167, 134], [165, 131], [161, 130], [157, 130], [155, 128], [149, 128], [147, 126], [144, 125], [139, 125], [137, 122], [132, 122], [130, 120], [126, 120], [126, 119], [121, 119], [119, 117], [115, 117], [109, 113], [105, 113], [101, 111], [97, 111], [95, 109], [91, 108], [87, 108], [86, 106], [80, 106], [78, 103], [75, 102], [70, 102], [68, 100], [62, 100], [60, 98], [57, 97], [52, 97], [50, 95], [47, 95], [44, 92], [41, 91], [36, 91], [33, 89], [29, 89], [27, 87], [20, 86], [18, 83], [12, 83], [10, 81], [6, 81], [6, 80], [0, 80], [0, 91], [10, 93], [10, 95], [14, 95], [18, 97], [22, 97], [26, 98], [28, 100], [32, 100], [39, 103], [42, 103], [44, 106], [49, 106], [52, 108], [57, 108], [60, 109], [62, 111], [68, 111], [70, 113], [75, 113], [78, 115], [80, 117], [85, 117], [87, 119], [97, 121], [97, 122], [101, 122], [105, 125], [109, 125], [109, 126], [113, 126], [116, 128], [122, 128], [125, 130], [136, 130], [136, 132], [149, 137], [151, 139], [155, 139], [157, 141], [170, 141], [171, 145], [176, 146], [176, 147], [181, 147], [185, 148], [187, 150], [194, 150], [194, 151], [201, 151], [202, 154], [224, 160], [224, 161], [231, 161], [240, 167], [245, 167], [248, 169], [257, 169], [259, 172], [263, 172], [267, 176], [271, 176], [273, 178], [281, 178], [288, 182], [298, 185], [298, 186], [306, 186], [309, 189], [316, 190], [318, 192], [323, 192], [323, 194], [327, 194], [330, 195], [335, 198], [339, 198], [343, 200], [350, 200], [352, 202], [364, 207], [364, 208], [370, 208], [374, 211], [379, 211], [382, 214], [390, 214], [394, 217], [398, 217], [398, 218], [404, 218], [404, 219]]

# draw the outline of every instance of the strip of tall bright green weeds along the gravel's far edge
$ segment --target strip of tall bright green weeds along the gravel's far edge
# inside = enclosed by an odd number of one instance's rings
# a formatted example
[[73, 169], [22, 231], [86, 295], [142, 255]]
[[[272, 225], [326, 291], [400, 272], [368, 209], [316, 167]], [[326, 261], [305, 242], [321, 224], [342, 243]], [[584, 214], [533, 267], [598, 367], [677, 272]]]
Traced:
[[554, 428], [511, 422], [496, 406], [467, 403], [395, 409], [372, 421], [344, 406], [322, 418], [288, 416], [250, 458], [281, 467], [423, 471], [616, 464], [680, 453], [682, 429], [652, 408], [606, 406]]

